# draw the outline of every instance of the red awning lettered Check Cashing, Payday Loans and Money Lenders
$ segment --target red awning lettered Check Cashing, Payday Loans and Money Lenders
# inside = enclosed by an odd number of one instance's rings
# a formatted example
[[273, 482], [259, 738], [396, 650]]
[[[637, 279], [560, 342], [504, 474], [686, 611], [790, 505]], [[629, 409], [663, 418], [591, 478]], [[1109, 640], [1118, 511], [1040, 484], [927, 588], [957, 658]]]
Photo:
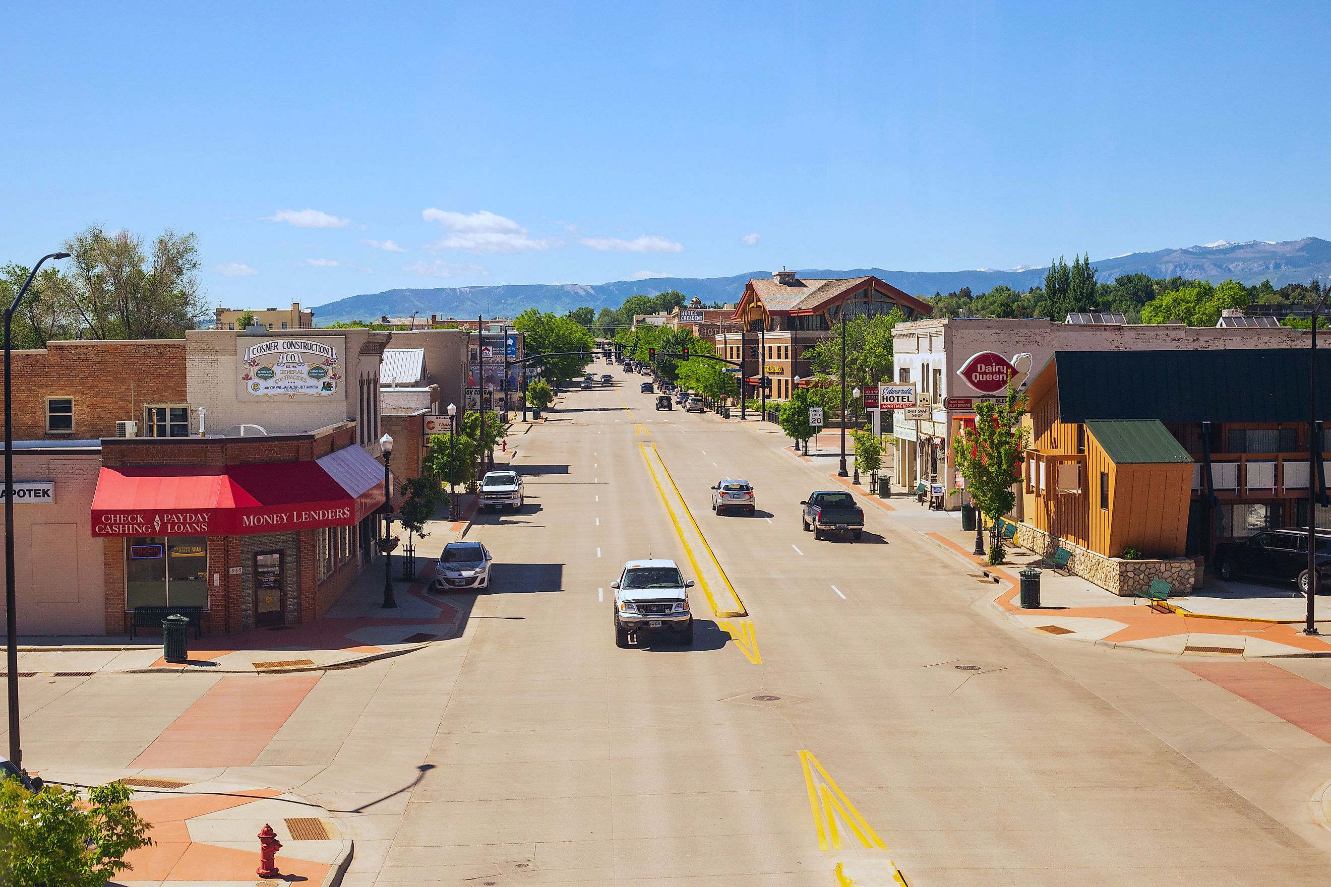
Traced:
[[350, 527], [383, 504], [383, 465], [361, 447], [315, 461], [102, 467], [93, 536], [248, 536]]

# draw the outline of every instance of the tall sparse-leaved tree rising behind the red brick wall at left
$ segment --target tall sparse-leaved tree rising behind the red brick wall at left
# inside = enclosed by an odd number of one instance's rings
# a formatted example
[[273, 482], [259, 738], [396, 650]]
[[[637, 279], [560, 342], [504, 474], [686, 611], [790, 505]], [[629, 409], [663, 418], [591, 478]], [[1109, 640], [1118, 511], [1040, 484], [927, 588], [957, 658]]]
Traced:
[[71, 253], [60, 282], [63, 310], [95, 339], [176, 339], [208, 314], [198, 291], [198, 242], [164, 231], [146, 253], [128, 231], [93, 225], [65, 243]]

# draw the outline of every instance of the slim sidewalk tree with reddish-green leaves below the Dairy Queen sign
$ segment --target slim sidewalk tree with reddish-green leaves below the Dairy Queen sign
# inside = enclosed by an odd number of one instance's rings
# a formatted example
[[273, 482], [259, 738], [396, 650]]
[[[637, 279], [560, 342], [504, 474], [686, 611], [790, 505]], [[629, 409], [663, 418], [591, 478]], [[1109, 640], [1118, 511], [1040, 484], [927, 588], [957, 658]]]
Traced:
[[1008, 386], [1002, 403], [981, 402], [976, 406], [976, 427], [965, 428], [952, 442], [957, 471], [966, 480], [966, 492], [980, 513], [989, 519], [989, 563], [1004, 563], [998, 539], [998, 519], [1013, 509], [1017, 495], [1012, 491], [1021, 480], [1017, 465], [1026, 447], [1026, 395]]

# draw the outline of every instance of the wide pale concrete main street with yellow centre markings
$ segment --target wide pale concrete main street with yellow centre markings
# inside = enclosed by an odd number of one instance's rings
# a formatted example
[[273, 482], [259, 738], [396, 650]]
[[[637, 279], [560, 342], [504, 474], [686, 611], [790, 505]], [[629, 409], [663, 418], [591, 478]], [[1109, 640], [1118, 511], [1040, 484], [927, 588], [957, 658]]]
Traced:
[[[253, 763], [217, 767], [333, 811], [343, 883], [1324, 883], [1326, 742], [1177, 658], [1012, 626], [876, 507], [860, 543], [815, 541], [799, 501], [839, 488], [832, 464], [611, 371], [511, 439], [527, 508], [467, 531], [496, 567], [457, 596], [462, 636], [322, 673]], [[753, 516], [711, 512], [723, 477]], [[699, 580], [691, 648], [615, 646], [610, 584], [639, 557]], [[31, 766], [112, 778], [216, 681], [36, 685]]]

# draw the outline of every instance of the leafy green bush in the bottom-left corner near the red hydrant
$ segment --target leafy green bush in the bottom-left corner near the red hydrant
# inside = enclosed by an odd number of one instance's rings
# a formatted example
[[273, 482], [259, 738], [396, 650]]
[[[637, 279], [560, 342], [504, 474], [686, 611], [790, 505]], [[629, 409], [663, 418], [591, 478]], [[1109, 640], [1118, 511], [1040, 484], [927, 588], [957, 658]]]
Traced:
[[17, 779], [0, 779], [0, 884], [102, 887], [129, 868], [129, 851], [153, 843], [130, 794], [112, 782], [84, 801], [59, 786], [32, 793]]

